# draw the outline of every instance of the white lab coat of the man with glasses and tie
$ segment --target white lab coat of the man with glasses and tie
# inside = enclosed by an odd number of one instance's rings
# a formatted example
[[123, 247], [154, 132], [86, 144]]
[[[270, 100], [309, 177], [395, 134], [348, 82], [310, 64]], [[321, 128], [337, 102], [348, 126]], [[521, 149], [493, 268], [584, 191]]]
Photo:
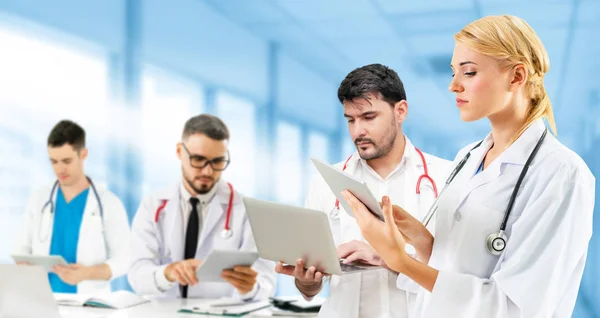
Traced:
[[[205, 259], [211, 250], [251, 250], [256, 244], [246, 216], [242, 195], [234, 193], [231, 210], [230, 228], [232, 236], [223, 238], [221, 231], [225, 227], [230, 189], [226, 182], [216, 185], [215, 197], [208, 204], [208, 213], [202, 223], [196, 259]], [[129, 272], [129, 283], [139, 294], [161, 295], [162, 297], [180, 297], [178, 284], [162, 291], [155, 280], [156, 272], [164, 273], [167, 265], [183, 260], [185, 233], [180, 211], [180, 184], [174, 184], [154, 194], [141, 203], [132, 225], [133, 265]], [[166, 205], [155, 222], [156, 211], [163, 200]], [[275, 290], [275, 263], [258, 259], [252, 266], [258, 272], [257, 284], [250, 293], [240, 295], [229, 283], [203, 283], [188, 288], [189, 298], [254, 298], [267, 299]]]

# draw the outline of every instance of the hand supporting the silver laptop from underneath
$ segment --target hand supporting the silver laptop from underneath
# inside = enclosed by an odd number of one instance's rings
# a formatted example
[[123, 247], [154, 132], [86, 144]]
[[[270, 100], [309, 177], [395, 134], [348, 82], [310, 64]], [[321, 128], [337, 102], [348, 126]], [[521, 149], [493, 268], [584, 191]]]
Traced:
[[279, 274], [293, 276], [296, 288], [307, 299], [314, 297], [321, 291], [321, 287], [323, 287], [323, 277], [325, 274], [317, 271], [317, 268], [314, 266], [305, 269], [302, 259], [296, 261], [296, 266], [283, 265], [282, 262], [277, 262], [275, 271]]

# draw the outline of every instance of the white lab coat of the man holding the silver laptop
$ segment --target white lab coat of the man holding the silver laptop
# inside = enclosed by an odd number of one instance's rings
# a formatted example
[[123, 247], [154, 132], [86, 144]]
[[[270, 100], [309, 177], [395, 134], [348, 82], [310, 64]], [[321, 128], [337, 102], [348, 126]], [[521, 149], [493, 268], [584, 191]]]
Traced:
[[[443, 185], [446, 176], [449, 174], [450, 161], [437, 158], [435, 156], [423, 153], [425, 161], [429, 169], [429, 175], [435, 180], [438, 191]], [[416, 194], [416, 183], [418, 177], [423, 174], [423, 163], [420, 156], [417, 154], [414, 146], [406, 138], [405, 156], [408, 156], [410, 160], [407, 162], [408, 167], [404, 176], [404, 205], [403, 207], [412, 215], [421, 219], [427, 214], [431, 203], [435, 199], [433, 188], [431, 183], [428, 181], [422, 181], [421, 195]], [[358, 152], [352, 154], [350, 161], [346, 165], [344, 172], [353, 175], [359, 164]], [[342, 170], [344, 161], [337, 163], [335, 167]], [[373, 189], [372, 189], [373, 191]], [[391, 192], [394, 190], [391, 189]], [[374, 191], [374, 193], [376, 193]], [[306, 198], [305, 206], [310, 209], [319, 210], [327, 213], [329, 217], [329, 223], [333, 233], [334, 241], [336, 246], [342, 243], [350, 242], [352, 240], [364, 241], [360, 234], [360, 228], [356, 223], [356, 219], [349, 216], [342, 205], [340, 205], [339, 219], [331, 218], [331, 211], [335, 204], [335, 195], [331, 192], [327, 183], [320, 175], [315, 175], [311, 183], [308, 195]], [[381, 199], [381, 198], [377, 198]], [[393, 198], [392, 198], [393, 200]], [[394, 203], [392, 201], [392, 203]], [[378, 285], [382, 289], [388, 289], [388, 273], [386, 270], [378, 270], [379, 280]], [[369, 275], [372, 275], [368, 273]], [[352, 318], [359, 316], [359, 306], [366, 306], [363, 308], [363, 312], [372, 311], [371, 308], [381, 306], [382, 303], [365, 303], [360, 299], [360, 288], [361, 288], [361, 276], [364, 274], [350, 274], [344, 276], [332, 276], [330, 280], [330, 296], [321, 307], [319, 313], [320, 317], [343, 317]], [[409, 281], [405, 276], [398, 277], [398, 281], [402, 284], [403, 290], [392, 288], [389, 293], [393, 293], [394, 304], [391, 305], [392, 312], [388, 313], [388, 317], [406, 317], [408, 313], [408, 307], [410, 302], [414, 302], [416, 292], [419, 286], [414, 282]], [[410, 290], [414, 294], [408, 297], [405, 290]], [[384, 293], [385, 294], [385, 293]], [[381, 300], [387, 303], [387, 300]], [[389, 306], [389, 304], [384, 305]], [[373, 309], [374, 310], [374, 309]]]

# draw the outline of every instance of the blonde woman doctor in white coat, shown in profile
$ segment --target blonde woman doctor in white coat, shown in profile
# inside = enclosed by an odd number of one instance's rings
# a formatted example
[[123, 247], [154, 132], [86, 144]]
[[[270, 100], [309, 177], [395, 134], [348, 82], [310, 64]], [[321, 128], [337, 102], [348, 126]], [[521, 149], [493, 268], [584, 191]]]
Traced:
[[[387, 197], [382, 223], [345, 196], [385, 263], [422, 286], [414, 317], [571, 317], [595, 180], [542, 121], [555, 131], [543, 84], [548, 54], [514, 16], [472, 22], [455, 40], [449, 89], [461, 119], [487, 117], [491, 133], [458, 153], [437, 204], [435, 239], [423, 238], [423, 224]], [[403, 252], [413, 240], [422, 242], [419, 259]]]

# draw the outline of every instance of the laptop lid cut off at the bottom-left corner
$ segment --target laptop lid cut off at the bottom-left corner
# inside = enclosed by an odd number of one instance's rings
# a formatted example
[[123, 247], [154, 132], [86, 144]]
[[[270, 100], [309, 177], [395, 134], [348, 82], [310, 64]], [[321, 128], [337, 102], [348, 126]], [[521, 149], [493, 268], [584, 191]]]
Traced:
[[0, 317], [61, 317], [44, 268], [0, 265]]

